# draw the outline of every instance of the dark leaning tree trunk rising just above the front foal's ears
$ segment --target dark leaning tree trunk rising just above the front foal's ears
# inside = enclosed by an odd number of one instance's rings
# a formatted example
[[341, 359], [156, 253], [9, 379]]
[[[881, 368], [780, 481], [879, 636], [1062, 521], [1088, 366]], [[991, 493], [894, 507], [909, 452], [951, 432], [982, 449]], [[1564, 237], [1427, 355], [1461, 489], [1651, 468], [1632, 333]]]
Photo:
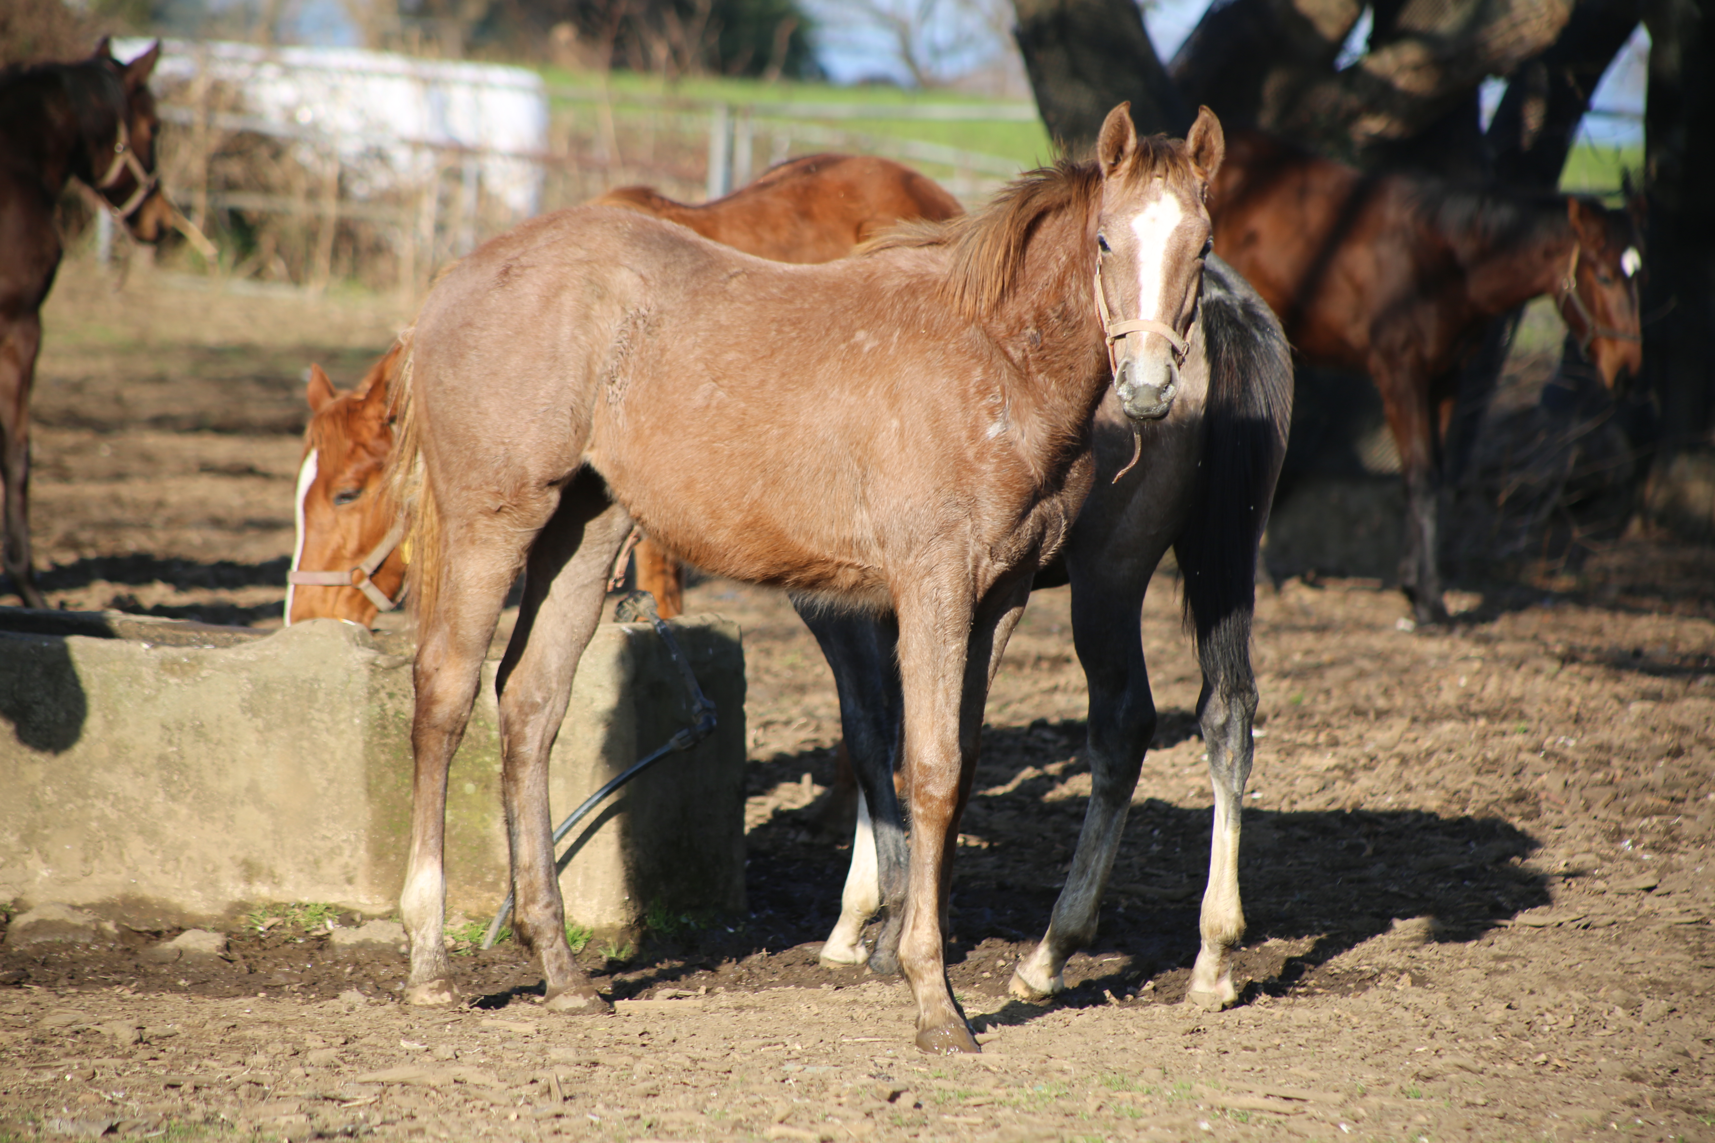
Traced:
[[1036, 108], [1063, 153], [1082, 158], [1101, 120], [1125, 99], [1144, 134], [1190, 129], [1185, 99], [1132, 0], [1014, 0], [1014, 10]]

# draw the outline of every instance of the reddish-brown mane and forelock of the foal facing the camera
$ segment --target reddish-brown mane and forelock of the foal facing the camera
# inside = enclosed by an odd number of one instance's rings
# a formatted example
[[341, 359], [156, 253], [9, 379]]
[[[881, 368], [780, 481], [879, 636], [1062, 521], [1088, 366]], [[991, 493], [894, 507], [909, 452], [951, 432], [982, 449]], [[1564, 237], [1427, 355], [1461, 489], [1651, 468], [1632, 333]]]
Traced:
[[[1166, 135], [1137, 141], [1137, 158], [1123, 175], [1142, 182], [1161, 168], [1190, 170], [1185, 144]], [[882, 250], [943, 247], [952, 255], [947, 291], [969, 317], [991, 314], [1024, 269], [1024, 252], [1038, 224], [1050, 214], [1089, 211], [1101, 199], [1101, 170], [1094, 161], [1060, 159], [1012, 180], [988, 206], [945, 223], [900, 223], [858, 248]]]

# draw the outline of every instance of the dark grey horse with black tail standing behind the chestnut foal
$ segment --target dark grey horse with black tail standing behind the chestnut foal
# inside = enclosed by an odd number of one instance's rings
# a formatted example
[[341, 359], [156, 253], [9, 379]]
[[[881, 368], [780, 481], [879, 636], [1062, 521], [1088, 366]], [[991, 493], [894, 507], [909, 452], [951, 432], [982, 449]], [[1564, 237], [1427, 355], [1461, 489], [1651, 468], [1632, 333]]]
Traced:
[[[1012, 992], [1041, 1001], [1065, 989], [1063, 968], [1096, 936], [1132, 792], [1156, 732], [1139, 612], [1156, 566], [1173, 547], [1197, 639], [1197, 716], [1209, 751], [1214, 828], [1202, 898], [1202, 948], [1187, 999], [1226, 1008], [1238, 999], [1231, 949], [1245, 932], [1238, 895], [1240, 809], [1250, 778], [1257, 684], [1250, 668], [1257, 547], [1286, 456], [1291, 355], [1279, 320], [1231, 266], [1209, 257], [1178, 396], [1161, 420], [1139, 427], [1115, 394], [1096, 411], [1096, 483], [1060, 559], [1039, 588], [1072, 584], [1072, 637], [1089, 685], [1091, 797], [1072, 871], [1048, 932], [1012, 975]], [[858, 780], [858, 833], [840, 919], [825, 965], [868, 963], [899, 972], [906, 828], [894, 783], [899, 733], [897, 629], [861, 615], [799, 613], [833, 668], [844, 742]], [[882, 913], [875, 946], [863, 932]]]

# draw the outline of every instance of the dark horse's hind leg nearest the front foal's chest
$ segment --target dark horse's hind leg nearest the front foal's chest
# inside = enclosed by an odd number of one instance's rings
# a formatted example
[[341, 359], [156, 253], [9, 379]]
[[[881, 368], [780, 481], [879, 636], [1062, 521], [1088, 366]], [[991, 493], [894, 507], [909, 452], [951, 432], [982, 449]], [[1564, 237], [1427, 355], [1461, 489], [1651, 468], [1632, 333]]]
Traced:
[[[1113, 550], [1096, 564], [1108, 564]], [[1072, 572], [1072, 634], [1089, 684], [1089, 807], [1072, 872], [1055, 901], [1048, 934], [1019, 961], [1012, 994], [1041, 1001], [1065, 989], [1067, 960], [1096, 937], [1101, 895], [1125, 833], [1144, 751], [1156, 733], [1156, 704], [1139, 622], [1149, 574], [1113, 576], [1067, 560]], [[1122, 622], [1123, 620], [1123, 622]]]

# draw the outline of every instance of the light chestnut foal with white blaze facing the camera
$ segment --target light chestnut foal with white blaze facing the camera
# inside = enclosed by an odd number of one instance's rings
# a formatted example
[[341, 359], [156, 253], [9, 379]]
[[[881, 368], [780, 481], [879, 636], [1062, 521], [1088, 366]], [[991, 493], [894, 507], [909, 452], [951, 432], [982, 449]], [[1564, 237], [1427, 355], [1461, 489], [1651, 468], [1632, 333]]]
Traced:
[[[1171, 413], [1221, 129], [1036, 171], [981, 212], [823, 266], [578, 207], [430, 291], [398, 392], [417, 610], [406, 999], [456, 999], [442, 934], [448, 764], [523, 569], [496, 679], [516, 932], [551, 1009], [605, 1008], [566, 944], [547, 757], [633, 521], [712, 572], [897, 624], [912, 809], [899, 960], [918, 1045], [978, 1050], [942, 915], [988, 684], [1096, 475], [1115, 387]], [[830, 326], [828, 315], [839, 322]]]

